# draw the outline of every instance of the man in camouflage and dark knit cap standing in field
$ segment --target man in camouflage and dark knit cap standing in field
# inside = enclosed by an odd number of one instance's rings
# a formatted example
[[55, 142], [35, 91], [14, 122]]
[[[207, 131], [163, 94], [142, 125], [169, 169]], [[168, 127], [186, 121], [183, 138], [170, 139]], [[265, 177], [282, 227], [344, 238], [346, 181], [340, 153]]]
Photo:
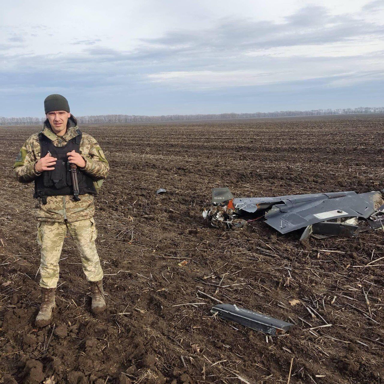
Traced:
[[[22, 146], [13, 166], [18, 181], [35, 181], [37, 242], [41, 246], [41, 306], [37, 326], [50, 324], [59, 279], [59, 258], [66, 231], [80, 251], [81, 263], [91, 285], [91, 310], [105, 310], [103, 270], [96, 250], [93, 195], [109, 173], [109, 164], [98, 142], [83, 133], [70, 114], [65, 97], [52, 94], [44, 101], [43, 130]], [[77, 167], [78, 195], [71, 167]], [[75, 182], [76, 185], [76, 182]]]

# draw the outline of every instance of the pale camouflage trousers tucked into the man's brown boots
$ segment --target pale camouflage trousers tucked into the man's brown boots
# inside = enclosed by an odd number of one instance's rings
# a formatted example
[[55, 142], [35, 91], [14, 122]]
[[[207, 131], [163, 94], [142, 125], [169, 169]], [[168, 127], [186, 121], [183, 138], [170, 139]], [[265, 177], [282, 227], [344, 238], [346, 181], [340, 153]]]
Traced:
[[67, 230], [80, 252], [87, 280], [99, 281], [103, 278], [95, 245], [97, 230], [93, 218], [61, 223], [40, 221], [37, 242], [41, 246], [40, 286], [43, 288], [56, 288], [59, 280], [59, 259]]

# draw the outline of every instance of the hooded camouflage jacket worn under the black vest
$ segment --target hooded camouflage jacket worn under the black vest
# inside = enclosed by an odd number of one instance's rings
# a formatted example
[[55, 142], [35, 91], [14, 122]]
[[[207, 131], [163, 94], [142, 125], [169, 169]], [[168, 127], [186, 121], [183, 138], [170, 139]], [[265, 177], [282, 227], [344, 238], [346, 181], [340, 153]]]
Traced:
[[[57, 147], [65, 146], [68, 141], [77, 136], [78, 129], [76, 119], [70, 117], [70, 125], [64, 136], [56, 136], [49, 127], [49, 123], [44, 124], [42, 132]], [[101, 150], [98, 142], [92, 136], [83, 132], [80, 151], [86, 165], [82, 172], [89, 175], [95, 183], [101, 182], [109, 173], [109, 164]], [[20, 153], [13, 166], [13, 174], [21, 183], [30, 183], [40, 175], [35, 172], [34, 165], [40, 159], [40, 142], [38, 133], [30, 136], [20, 149]], [[96, 189], [97, 186], [96, 185]], [[80, 196], [80, 201], [74, 201], [73, 196], [48, 196], [47, 204], [42, 204], [41, 199], [37, 199], [35, 205], [35, 217], [39, 221], [74, 222], [91, 218], [94, 215], [93, 196], [85, 194]]]

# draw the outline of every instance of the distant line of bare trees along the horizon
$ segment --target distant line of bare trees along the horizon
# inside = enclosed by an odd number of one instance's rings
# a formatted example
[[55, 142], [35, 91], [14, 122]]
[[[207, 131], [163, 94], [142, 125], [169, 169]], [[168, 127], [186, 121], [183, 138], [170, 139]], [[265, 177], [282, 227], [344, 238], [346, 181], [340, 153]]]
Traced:
[[[316, 116], [316, 115], [345, 115], [364, 113], [384, 113], [384, 107], [358, 107], [338, 109], [311, 109], [310, 111], [275, 111], [256, 113], [217, 113], [194, 115], [97, 115], [76, 116], [81, 124], [108, 124], [121, 122], [157, 122], [157, 121], [190, 121], [212, 119], [250, 119], [250, 118], [280, 118], [289, 116]], [[41, 125], [45, 118], [3, 118], [0, 117], [0, 125]]]

